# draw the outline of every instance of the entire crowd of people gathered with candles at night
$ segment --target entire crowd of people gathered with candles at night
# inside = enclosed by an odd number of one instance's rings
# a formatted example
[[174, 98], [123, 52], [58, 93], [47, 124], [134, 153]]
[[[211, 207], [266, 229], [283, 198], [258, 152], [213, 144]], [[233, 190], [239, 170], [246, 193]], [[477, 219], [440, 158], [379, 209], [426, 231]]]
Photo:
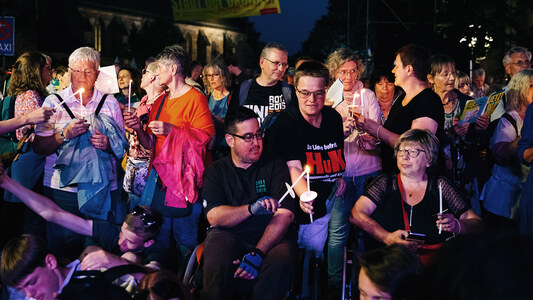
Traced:
[[[93, 48], [54, 70], [49, 56], [22, 54], [0, 106], [12, 111], [0, 121], [2, 296], [117, 299], [80, 278], [122, 270], [120, 291], [135, 299], [307, 299], [306, 257], [327, 273], [318, 295], [340, 299], [352, 237], [354, 295], [438, 298], [423, 287], [449, 281], [458, 252], [532, 249], [528, 49], [505, 54], [503, 86], [413, 44], [372, 72], [347, 48], [294, 67], [277, 43], [259, 56], [247, 76], [235, 61], [202, 66], [167, 46], [142, 70], [118, 66], [119, 92], [106, 94]], [[465, 121], [480, 99], [499, 102]], [[195, 284], [182, 277], [190, 257]], [[531, 264], [520, 257], [509, 269]], [[523, 289], [502, 265], [501, 286]], [[503, 290], [453, 272], [462, 282], [439, 295]]]

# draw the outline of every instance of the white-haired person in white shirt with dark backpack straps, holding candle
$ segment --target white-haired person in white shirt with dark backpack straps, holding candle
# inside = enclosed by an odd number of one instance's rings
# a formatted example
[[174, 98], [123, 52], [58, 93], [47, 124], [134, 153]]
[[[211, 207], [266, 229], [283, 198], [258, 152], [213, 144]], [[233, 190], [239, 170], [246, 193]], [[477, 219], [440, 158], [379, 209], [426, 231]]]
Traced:
[[[67, 212], [75, 215], [83, 215], [80, 212], [78, 201], [85, 199], [78, 199], [78, 185], [62, 184], [62, 171], [54, 168], [57, 152], [61, 152], [63, 145], [68, 143], [71, 139], [75, 139], [84, 135], [83, 139], [87, 138], [87, 145], [94, 147], [96, 153], [100, 153], [102, 159], [97, 157], [80, 157], [79, 160], [73, 161], [77, 164], [81, 159], [87, 159], [85, 166], [94, 165], [95, 167], [107, 165], [110, 163], [112, 167], [108, 172], [102, 172], [102, 178], [109, 181], [109, 197], [105, 197], [103, 208], [109, 207], [109, 212], [104, 219], [120, 224], [126, 214], [126, 203], [120, 198], [117, 184], [117, 170], [115, 151], [113, 147], [116, 145], [110, 144], [110, 138], [102, 134], [103, 128], [98, 130], [93, 128], [87, 120], [81, 118], [81, 114], [89, 117], [95, 114], [99, 109], [99, 115], [105, 115], [109, 119], [109, 124], [114, 123], [114, 128], [118, 129], [118, 135], [124, 135], [124, 122], [122, 119], [122, 112], [118, 106], [118, 102], [112, 95], [105, 96], [104, 93], [95, 88], [96, 78], [98, 77], [98, 68], [100, 66], [100, 53], [90, 47], [81, 47], [69, 56], [69, 74], [71, 76], [70, 87], [58, 92], [59, 99], [56, 95], [48, 96], [43, 107], [55, 107], [56, 113], [48, 120], [47, 123], [39, 124], [35, 129], [34, 151], [38, 154], [47, 155], [44, 167], [44, 195], [54, 200], [54, 202]], [[83, 91], [83, 92], [81, 92]], [[64, 100], [62, 105], [60, 102]], [[80, 112], [80, 100], [82, 100], [83, 110]], [[69, 108], [69, 111], [66, 110]], [[70, 115], [72, 114], [72, 116]], [[92, 116], [90, 116], [92, 117]], [[89, 130], [90, 129], [90, 130]], [[125, 139], [125, 138], [124, 138]], [[84, 143], [85, 144], [85, 143]], [[124, 151], [124, 149], [122, 149]], [[99, 157], [100, 157], [99, 156]], [[120, 155], [121, 157], [122, 155]], [[106, 157], [106, 158], [103, 158]], [[68, 173], [68, 172], [67, 172]], [[86, 178], [89, 174], [79, 176], [80, 179]], [[82, 203], [82, 202], [80, 202]], [[108, 217], [107, 217], [108, 216]], [[77, 257], [83, 248], [82, 237], [75, 232], [64, 229], [63, 227], [49, 223], [47, 226], [48, 242], [50, 250], [62, 257]]]

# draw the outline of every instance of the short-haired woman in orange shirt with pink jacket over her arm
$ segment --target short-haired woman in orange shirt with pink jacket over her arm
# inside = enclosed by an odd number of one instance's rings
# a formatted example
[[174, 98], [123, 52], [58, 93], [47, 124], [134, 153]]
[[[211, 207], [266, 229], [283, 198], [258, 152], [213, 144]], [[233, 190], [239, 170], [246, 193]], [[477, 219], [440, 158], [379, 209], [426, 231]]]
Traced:
[[[196, 201], [199, 188], [197, 180], [203, 176], [205, 147], [215, 135], [215, 128], [205, 96], [185, 83], [191, 65], [189, 53], [181, 46], [168, 46], [158, 55], [157, 64], [157, 79], [168, 87], [168, 92], [155, 100], [147, 130], [143, 129], [139, 117], [135, 115], [126, 114], [124, 120], [126, 126], [137, 132], [141, 145], [153, 149], [142, 201], [151, 201], [152, 207], [163, 214], [158, 241], [170, 249], [173, 236], [180, 252], [178, 255], [184, 257], [197, 245], [201, 212], [201, 203]], [[190, 134], [187, 135], [187, 132]], [[179, 134], [182, 134], [182, 138]], [[180, 146], [181, 142], [190, 145], [188, 155], [172, 152], [173, 149], [183, 149], [180, 148], [184, 147]], [[166, 169], [165, 165], [172, 167], [172, 170]], [[187, 166], [187, 170], [184, 166]], [[190, 171], [188, 176], [172, 173], [179, 168]], [[190, 196], [187, 199], [176, 196], [186, 192]]]

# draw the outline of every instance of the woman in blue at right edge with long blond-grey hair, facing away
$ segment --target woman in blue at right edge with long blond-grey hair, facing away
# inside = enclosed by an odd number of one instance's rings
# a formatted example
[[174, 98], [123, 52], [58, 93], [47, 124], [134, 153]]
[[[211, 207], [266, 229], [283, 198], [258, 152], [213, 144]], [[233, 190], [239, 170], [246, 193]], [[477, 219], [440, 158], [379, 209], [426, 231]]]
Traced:
[[533, 101], [533, 70], [522, 70], [511, 78], [505, 99], [505, 114], [490, 141], [496, 163], [481, 199], [485, 208], [483, 219], [489, 229], [517, 230], [517, 203], [530, 168], [520, 163], [516, 147], [526, 109]]

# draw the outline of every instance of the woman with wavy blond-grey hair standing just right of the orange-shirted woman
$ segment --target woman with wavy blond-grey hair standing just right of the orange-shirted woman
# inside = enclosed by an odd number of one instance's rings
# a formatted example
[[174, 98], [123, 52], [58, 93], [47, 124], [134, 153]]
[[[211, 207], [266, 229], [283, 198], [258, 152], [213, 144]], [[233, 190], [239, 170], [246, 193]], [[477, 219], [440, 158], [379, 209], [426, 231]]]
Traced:
[[231, 75], [226, 64], [220, 59], [215, 59], [203, 69], [203, 76], [207, 79], [208, 90], [211, 92], [207, 97], [209, 110], [213, 116], [216, 130], [216, 140], [213, 147], [213, 158], [218, 159], [229, 153], [228, 144], [224, 138], [224, 119], [231, 100]]

